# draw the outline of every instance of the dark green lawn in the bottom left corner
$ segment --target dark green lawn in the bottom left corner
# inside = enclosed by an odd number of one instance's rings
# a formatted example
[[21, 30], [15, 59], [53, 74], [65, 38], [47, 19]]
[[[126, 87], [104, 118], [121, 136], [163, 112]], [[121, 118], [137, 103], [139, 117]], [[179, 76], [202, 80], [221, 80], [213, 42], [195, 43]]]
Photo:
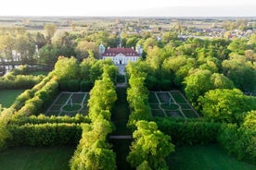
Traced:
[[0, 153], [1, 170], [68, 170], [73, 147], [17, 147]]

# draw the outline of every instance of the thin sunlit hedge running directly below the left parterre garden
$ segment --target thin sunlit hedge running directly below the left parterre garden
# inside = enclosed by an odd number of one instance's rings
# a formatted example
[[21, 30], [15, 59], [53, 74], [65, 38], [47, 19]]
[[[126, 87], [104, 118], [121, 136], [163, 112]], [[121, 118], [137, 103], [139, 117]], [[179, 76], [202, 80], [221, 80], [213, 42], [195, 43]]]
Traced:
[[91, 120], [87, 116], [83, 115], [75, 115], [70, 117], [68, 115], [64, 116], [46, 116], [46, 115], [31, 115], [31, 116], [23, 116], [19, 118], [12, 118], [9, 122], [9, 125], [25, 125], [25, 124], [45, 124], [45, 123], [90, 123]]

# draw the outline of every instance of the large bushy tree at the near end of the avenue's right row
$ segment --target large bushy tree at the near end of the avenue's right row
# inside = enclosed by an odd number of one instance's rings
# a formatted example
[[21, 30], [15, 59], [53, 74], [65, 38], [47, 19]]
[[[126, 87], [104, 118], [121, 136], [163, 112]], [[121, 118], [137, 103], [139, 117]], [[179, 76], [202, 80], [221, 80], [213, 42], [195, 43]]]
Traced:
[[168, 169], [165, 157], [174, 152], [171, 137], [158, 130], [155, 122], [138, 121], [127, 161], [140, 169]]

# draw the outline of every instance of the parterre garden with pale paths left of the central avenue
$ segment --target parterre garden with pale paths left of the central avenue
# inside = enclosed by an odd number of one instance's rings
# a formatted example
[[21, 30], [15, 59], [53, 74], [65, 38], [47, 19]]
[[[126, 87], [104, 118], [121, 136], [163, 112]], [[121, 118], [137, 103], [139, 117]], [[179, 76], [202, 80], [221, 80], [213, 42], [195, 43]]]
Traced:
[[88, 99], [88, 92], [61, 92], [45, 115], [87, 115]]

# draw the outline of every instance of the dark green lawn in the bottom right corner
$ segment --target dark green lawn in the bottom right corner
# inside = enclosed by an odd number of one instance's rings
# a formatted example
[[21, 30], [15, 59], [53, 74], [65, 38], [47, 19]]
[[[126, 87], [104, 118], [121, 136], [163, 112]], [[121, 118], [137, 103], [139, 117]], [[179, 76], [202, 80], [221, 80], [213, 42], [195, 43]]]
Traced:
[[255, 165], [246, 164], [228, 155], [217, 144], [175, 148], [168, 157], [171, 170], [254, 170]]

